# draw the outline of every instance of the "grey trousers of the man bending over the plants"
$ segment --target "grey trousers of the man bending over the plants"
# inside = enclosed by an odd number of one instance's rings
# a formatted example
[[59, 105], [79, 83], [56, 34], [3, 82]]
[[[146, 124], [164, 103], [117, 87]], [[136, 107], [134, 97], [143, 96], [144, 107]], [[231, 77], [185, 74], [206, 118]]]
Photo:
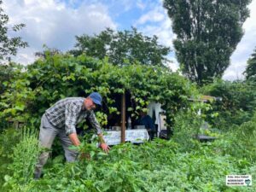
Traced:
[[[67, 137], [64, 129], [55, 128], [55, 126], [49, 123], [49, 120], [43, 115], [41, 119], [40, 131], [39, 131], [39, 145], [42, 148], [51, 148], [55, 137], [59, 137], [61, 140], [61, 145], [65, 151], [65, 157], [68, 162], [73, 162], [78, 157], [78, 151], [69, 149], [73, 143], [70, 141], [69, 137]], [[49, 152], [43, 152], [38, 157], [38, 163], [35, 167], [34, 177], [39, 178], [42, 174], [43, 166], [45, 165], [47, 159], [49, 157]]]

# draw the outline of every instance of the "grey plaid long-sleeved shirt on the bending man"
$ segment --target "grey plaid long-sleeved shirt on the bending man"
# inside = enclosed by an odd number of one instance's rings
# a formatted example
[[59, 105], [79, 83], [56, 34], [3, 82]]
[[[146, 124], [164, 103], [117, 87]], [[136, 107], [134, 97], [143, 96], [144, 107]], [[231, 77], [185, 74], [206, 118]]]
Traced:
[[55, 127], [60, 129], [65, 127], [67, 135], [76, 132], [76, 125], [86, 117], [88, 117], [90, 124], [96, 129], [97, 134], [102, 133], [94, 112], [83, 108], [83, 103], [83, 97], [67, 97], [47, 109], [45, 115]]

